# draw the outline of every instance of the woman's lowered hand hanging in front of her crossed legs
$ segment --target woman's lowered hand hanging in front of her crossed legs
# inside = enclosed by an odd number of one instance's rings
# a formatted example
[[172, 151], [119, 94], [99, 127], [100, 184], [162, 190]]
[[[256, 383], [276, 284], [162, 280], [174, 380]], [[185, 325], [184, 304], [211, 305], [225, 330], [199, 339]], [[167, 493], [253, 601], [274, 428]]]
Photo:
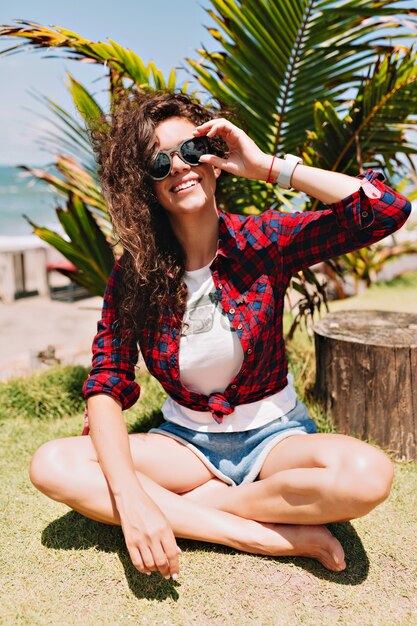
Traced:
[[116, 506], [133, 565], [143, 574], [159, 571], [176, 580], [181, 550], [168, 520], [144, 491], [132, 495], [116, 498]]

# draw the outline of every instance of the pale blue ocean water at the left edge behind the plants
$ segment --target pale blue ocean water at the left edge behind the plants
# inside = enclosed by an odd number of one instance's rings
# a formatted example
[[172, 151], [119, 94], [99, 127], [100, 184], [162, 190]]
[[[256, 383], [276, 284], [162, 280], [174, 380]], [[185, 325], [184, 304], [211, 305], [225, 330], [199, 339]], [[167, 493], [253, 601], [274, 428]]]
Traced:
[[32, 226], [22, 214], [38, 226], [62, 232], [55, 207], [63, 206], [58, 197], [42, 181], [34, 181], [27, 172], [16, 167], [0, 165], [0, 235], [31, 235]]

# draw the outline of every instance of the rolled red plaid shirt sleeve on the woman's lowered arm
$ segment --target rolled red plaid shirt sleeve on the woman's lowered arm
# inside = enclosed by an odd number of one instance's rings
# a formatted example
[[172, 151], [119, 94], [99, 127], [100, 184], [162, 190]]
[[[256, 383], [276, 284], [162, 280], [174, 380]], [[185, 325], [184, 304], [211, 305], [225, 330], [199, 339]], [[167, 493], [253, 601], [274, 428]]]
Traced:
[[120, 402], [124, 410], [137, 401], [140, 387], [135, 381], [139, 354], [137, 341], [131, 333], [122, 337], [115, 321], [121, 261], [115, 264], [104, 293], [101, 319], [92, 346], [92, 368], [83, 385], [83, 394], [86, 399], [97, 393], [108, 394]]

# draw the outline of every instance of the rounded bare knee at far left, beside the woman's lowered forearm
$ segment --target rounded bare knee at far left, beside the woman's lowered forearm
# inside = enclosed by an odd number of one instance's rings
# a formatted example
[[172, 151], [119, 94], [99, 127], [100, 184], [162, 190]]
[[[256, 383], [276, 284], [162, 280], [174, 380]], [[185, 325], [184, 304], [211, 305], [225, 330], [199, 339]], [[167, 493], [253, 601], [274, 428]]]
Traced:
[[33, 455], [29, 477], [33, 485], [54, 500], [64, 501], [70, 475], [65, 440], [48, 441]]

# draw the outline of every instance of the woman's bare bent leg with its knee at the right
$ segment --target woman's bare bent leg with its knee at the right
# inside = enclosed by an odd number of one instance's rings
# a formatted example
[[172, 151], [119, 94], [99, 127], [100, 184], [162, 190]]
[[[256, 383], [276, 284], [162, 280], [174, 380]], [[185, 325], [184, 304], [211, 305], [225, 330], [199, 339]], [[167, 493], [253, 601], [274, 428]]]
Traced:
[[324, 524], [368, 513], [388, 496], [392, 478], [388, 457], [362, 441], [293, 436], [270, 451], [256, 482], [226, 490], [210, 481], [187, 497], [261, 522]]

